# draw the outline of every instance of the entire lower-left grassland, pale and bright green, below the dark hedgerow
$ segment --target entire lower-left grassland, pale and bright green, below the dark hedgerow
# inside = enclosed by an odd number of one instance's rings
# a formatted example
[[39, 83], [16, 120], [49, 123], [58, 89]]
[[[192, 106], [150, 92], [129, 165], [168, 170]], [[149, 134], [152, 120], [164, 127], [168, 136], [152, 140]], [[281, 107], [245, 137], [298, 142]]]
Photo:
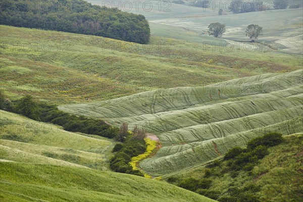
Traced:
[[165, 182], [106, 171], [113, 142], [0, 111], [2, 201], [215, 201]]

